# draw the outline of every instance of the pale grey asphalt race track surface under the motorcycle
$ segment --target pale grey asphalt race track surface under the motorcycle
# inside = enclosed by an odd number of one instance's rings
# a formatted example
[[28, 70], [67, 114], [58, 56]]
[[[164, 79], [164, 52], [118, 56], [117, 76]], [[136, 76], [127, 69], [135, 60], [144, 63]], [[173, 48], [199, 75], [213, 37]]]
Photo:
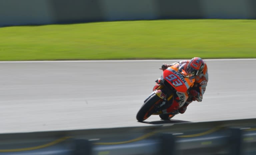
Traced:
[[[0, 133], [147, 126], [136, 120], [144, 99], [175, 61], [0, 63]], [[206, 60], [209, 83], [170, 121], [201, 122], [256, 117], [256, 59]], [[155, 122], [155, 123], [154, 123]]]

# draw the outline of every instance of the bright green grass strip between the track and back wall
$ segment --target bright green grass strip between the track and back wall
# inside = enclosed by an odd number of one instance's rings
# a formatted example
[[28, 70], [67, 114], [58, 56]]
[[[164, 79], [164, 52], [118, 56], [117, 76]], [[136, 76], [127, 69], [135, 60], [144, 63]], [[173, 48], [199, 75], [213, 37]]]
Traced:
[[152, 20], [0, 28], [0, 61], [256, 58], [256, 20]]

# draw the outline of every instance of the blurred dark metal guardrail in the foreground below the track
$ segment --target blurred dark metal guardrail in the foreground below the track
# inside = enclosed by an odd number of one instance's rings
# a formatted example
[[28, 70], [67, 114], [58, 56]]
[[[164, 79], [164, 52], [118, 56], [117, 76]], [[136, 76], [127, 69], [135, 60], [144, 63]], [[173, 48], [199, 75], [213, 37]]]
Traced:
[[253, 155], [256, 119], [0, 134], [0, 155]]

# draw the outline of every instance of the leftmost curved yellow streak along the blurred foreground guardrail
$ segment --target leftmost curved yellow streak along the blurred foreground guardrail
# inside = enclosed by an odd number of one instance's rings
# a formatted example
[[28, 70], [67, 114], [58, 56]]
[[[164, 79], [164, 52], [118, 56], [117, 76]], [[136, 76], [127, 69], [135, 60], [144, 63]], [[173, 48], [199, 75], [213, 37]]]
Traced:
[[60, 142], [63, 142], [66, 139], [69, 139], [69, 138], [71, 138], [71, 137], [63, 137], [63, 138], [54, 140], [50, 143], [39, 145], [39, 146], [28, 147], [28, 148], [18, 148], [18, 149], [4, 149], [4, 150], [0, 150], [0, 152], [19, 152], [19, 151], [31, 151], [31, 150], [36, 150], [36, 149], [42, 149], [42, 148], [49, 147], [49, 146], [58, 144]]

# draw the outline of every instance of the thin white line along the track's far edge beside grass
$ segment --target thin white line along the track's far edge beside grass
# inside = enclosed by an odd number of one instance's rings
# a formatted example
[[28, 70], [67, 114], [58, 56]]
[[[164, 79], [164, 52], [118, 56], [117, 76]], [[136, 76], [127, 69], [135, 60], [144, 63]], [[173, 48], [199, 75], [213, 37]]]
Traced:
[[[84, 62], [163, 62], [180, 61], [185, 59], [165, 59], [165, 60], [56, 60], [56, 61], [0, 61], [0, 63], [84, 63]], [[187, 59], [188, 60], [188, 59]], [[236, 61], [236, 60], [256, 60], [256, 59], [204, 59], [206, 61]]]

